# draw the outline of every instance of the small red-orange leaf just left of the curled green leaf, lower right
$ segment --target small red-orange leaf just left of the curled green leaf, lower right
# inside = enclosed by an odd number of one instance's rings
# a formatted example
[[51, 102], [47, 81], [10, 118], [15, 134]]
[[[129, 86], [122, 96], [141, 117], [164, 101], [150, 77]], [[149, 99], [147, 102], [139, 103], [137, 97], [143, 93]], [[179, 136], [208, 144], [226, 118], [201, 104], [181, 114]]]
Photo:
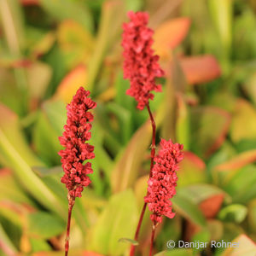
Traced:
[[213, 195], [212, 197], [201, 202], [200, 209], [206, 218], [214, 218], [217, 215], [223, 201], [224, 194]]

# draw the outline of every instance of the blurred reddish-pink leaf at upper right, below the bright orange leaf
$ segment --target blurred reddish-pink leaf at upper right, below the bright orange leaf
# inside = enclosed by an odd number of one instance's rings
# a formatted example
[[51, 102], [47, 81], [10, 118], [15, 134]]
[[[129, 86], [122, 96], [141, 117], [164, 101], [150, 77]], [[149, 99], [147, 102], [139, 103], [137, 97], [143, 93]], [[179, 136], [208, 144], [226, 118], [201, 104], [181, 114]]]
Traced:
[[180, 65], [189, 84], [207, 83], [221, 74], [218, 62], [212, 55], [184, 57], [180, 59]]

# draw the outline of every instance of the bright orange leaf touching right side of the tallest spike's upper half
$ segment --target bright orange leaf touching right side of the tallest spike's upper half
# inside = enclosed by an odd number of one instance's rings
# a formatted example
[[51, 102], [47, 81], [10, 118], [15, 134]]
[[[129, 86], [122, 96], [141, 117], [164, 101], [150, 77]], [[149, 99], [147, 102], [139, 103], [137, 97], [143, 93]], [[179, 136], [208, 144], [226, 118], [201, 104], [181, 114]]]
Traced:
[[154, 33], [154, 49], [157, 55], [164, 57], [168, 55], [170, 49], [174, 49], [181, 44], [189, 32], [189, 18], [177, 18], [167, 20], [161, 24]]

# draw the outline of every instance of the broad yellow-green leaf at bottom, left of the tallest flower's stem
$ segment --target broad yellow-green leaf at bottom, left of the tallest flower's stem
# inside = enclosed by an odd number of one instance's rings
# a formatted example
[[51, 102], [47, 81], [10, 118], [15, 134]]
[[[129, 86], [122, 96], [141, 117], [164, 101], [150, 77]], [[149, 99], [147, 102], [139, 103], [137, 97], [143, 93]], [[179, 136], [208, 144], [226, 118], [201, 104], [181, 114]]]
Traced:
[[119, 242], [119, 239], [134, 236], [137, 217], [136, 200], [131, 190], [113, 195], [92, 227], [91, 249], [113, 256], [124, 253], [129, 244]]

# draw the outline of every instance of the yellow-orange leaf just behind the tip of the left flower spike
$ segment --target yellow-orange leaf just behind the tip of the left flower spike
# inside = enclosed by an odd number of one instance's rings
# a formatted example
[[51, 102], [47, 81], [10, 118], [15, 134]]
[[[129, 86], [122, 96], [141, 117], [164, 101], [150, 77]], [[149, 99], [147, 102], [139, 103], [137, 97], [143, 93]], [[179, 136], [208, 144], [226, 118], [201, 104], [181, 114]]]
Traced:
[[75, 67], [62, 79], [61, 84], [55, 92], [55, 99], [61, 99], [69, 103], [80, 86], [85, 86], [87, 80], [87, 69], [83, 64]]

